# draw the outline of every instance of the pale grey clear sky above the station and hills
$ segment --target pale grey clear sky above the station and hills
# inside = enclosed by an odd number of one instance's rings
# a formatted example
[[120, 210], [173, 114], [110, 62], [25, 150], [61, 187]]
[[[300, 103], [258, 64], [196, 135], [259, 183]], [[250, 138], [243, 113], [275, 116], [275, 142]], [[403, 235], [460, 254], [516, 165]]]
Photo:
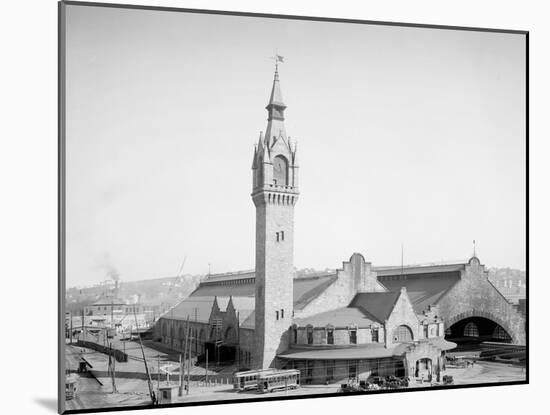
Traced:
[[525, 269], [518, 34], [67, 7], [67, 286], [254, 268], [275, 53], [294, 264]]

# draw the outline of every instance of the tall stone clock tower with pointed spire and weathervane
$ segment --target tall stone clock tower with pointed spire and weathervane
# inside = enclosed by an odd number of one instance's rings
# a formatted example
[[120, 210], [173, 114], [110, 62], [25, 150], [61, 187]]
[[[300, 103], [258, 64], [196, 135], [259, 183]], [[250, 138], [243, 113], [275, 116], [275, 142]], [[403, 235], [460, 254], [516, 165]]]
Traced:
[[256, 313], [254, 366], [274, 365], [288, 348], [294, 276], [294, 204], [298, 200], [296, 145], [287, 137], [278, 68], [269, 103], [265, 136], [260, 133], [252, 163], [256, 206]]

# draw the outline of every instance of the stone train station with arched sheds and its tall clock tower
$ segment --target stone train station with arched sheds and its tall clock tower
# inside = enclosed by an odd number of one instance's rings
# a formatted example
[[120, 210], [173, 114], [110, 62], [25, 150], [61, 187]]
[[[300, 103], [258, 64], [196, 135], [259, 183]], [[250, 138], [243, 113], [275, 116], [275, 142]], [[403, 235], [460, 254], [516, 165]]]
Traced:
[[158, 320], [158, 341], [183, 351], [187, 338], [199, 360], [208, 353], [238, 368], [297, 368], [307, 383], [437, 377], [456, 346], [449, 338], [525, 344], [523, 317], [475, 256], [377, 268], [354, 253], [334, 272], [296, 275], [299, 164], [277, 68], [266, 109], [252, 161], [256, 267], [208, 276]]

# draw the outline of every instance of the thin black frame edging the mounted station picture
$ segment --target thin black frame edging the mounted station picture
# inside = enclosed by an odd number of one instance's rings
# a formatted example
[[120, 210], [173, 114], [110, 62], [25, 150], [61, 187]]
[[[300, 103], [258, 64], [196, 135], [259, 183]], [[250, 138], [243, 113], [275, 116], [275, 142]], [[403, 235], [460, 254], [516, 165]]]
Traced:
[[[194, 14], [211, 14], [239, 17], [262, 17], [284, 20], [305, 20], [317, 22], [333, 22], [333, 23], [351, 23], [365, 24], [378, 26], [396, 26], [396, 27], [412, 27], [438, 30], [460, 30], [460, 31], [476, 31], [487, 33], [506, 33], [525, 36], [525, 149], [526, 149], [526, 264], [525, 264], [525, 284], [526, 284], [526, 315], [525, 315], [525, 333], [526, 333], [526, 360], [525, 360], [525, 380], [523, 381], [507, 381], [507, 382], [492, 382], [478, 383], [469, 385], [447, 385], [447, 386], [431, 386], [414, 389], [399, 389], [399, 390], [378, 390], [378, 391], [361, 391], [351, 394], [342, 393], [324, 393], [313, 395], [300, 396], [281, 396], [281, 397], [258, 397], [258, 398], [243, 398], [231, 400], [215, 400], [215, 401], [200, 401], [188, 403], [160, 404], [160, 405], [129, 405], [121, 407], [105, 407], [105, 408], [90, 408], [90, 409], [65, 409], [65, 277], [66, 277], [66, 212], [65, 212], [65, 185], [66, 185], [66, 131], [65, 131], [65, 110], [66, 110], [66, 85], [65, 85], [65, 47], [66, 47], [66, 6], [81, 6], [81, 7], [104, 7], [132, 10], [154, 10], [164, 12], [179, 12], [179, 13], [194, 13]], [[58, 2], [58, 413], [60, 414], [77, 414], [77, 413], [96, 413], [96, 412], [114, 412], [128, 411], [137, 409], [153, 409], [153, 408], [179, 408], [188, 406], [205, 406], [205, 405], [223, 405], [223, 404], [238, 404], [246, 402], [269, 402], [281, 400], [296, 400], [296, 399], [315, 399], [328, 397], [345, 397], [358, 395], [372, 394], [390, 394], [390, 393], [410, 393], [422, 391], [436, 391], [447, 389], [468, 389], [491, 386], [510, 386], [510, 385], [526, 385], [529, 384], [529, 31], [528, 30], [509, 30], [500, 28], [483, 28], [483, 27], [465, 27], [452, 25], [432, 25], [422, 23], [405, 23], [405, 22], [390, 22], [390, 21], [374, 21], [361, 19], [346, 19], [346, 18], [330, 18], [318, 16], [300, 16], [300, 15], [285, 15], [285, 14], [269, 14], [269, 13], [254, 13], [254, 12], [236, 12], [223, 10], [209, 9], [190, 9], [179, 7], [163, 7], [163, 6], [144, 6], [132, 4], [117, 4], [117, 3], [98, 3], [98, 2], [80, 2], [80, 1], [59, 1]]]

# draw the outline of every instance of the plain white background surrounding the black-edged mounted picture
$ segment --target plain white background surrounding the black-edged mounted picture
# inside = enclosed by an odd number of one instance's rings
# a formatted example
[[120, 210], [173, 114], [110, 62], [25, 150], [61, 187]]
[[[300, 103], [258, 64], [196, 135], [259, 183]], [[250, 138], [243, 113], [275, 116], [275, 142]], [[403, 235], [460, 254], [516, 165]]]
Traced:
[[[357, 18], [530, 31], [531, 83], [531, 385], [187, 407], [203, 415], [362, 411], [537, 413], [547, 404], [550, 277], [548, 75], [550, 28], [537, 1], [126, 1], [170, 7]], [[54, 0], [2, 4], [1, 251], [4, 336], [2, 402], [6, 413], [53, 413], [57, 362], [57, 5]], [[540, 139], [537, 140], [537, 137]], [[536, 206], [536, 208], [535, 208]], [[534, 224], [536, 223], [536, 229]], [[7, 267], [6, 267], [7, 265]], [[544, 297], [543, 297], [544, 296]], [[538, 327], [539, 330], [536, 330]], [[10, 411], [10, 409], [12, 409]], [[126, 412], [119, 412], [126, 413]]]

